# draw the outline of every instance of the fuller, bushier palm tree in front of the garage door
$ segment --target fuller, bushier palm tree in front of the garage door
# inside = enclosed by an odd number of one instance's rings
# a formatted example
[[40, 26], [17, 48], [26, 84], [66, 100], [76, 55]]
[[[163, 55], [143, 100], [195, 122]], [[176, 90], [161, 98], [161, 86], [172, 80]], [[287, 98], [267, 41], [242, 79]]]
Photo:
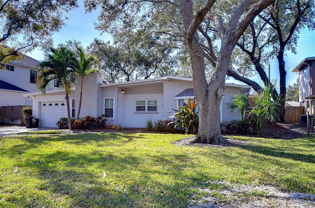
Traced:
[[42, 93], [46, 93], [46, 86], [49, 81], [55, 79], [64, 88], [65, 101], [67, 105], [68, 127], [72, 129], [69, 95], [73, 83], [73, 68], [75, 61], [74, 54], [65, 47], [58, 49], [50, 48], [44, 61], [40, 62], [36, 84]]

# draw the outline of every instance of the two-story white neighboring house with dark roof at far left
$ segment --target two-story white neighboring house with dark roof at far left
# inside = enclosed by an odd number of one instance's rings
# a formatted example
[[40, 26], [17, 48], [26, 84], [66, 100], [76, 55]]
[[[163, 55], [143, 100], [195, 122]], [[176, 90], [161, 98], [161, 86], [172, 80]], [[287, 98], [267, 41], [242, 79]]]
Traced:
[[[23, 93], [39, 92], [35, 78], [39, 61], [21, 54], [23, 58], [1, 64], [6, 70], [0, 70], [0, 107], [15, 105], [32, 105], [32, 99], [23, 97]], [[50, 83], [48, 90], [59, 89]]]

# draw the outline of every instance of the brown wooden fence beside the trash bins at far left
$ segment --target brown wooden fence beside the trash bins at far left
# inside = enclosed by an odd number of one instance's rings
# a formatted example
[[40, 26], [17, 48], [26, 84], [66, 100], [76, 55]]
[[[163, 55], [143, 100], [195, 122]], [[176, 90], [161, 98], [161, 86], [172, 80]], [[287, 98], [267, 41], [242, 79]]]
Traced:
[[24, 124], [22, 108], [31, 105], [17, 105], [0, 107], [0, 125], [22, 125]]

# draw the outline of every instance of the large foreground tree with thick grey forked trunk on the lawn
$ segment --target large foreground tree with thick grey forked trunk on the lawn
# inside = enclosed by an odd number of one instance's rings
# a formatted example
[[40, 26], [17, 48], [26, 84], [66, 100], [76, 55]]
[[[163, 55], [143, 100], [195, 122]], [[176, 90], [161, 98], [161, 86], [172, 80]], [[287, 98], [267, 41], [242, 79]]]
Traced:
[[[226, 144], [220, 130], [220, 103], [233, 49], [253, 18], [274, 0], [84, 2], [87, 11], [101, 8], [96, 24], [101, 31], [114, 34], [124, 30], [129, 20], [136, 20], [137, 25], [164, 34], [167, 43], [184, 40], [199, 109], [195, 142]], [[212, 36], [220, 38], [217, 53]], [[208, 63], [214, 68], [210, 80], [205, 73]]]

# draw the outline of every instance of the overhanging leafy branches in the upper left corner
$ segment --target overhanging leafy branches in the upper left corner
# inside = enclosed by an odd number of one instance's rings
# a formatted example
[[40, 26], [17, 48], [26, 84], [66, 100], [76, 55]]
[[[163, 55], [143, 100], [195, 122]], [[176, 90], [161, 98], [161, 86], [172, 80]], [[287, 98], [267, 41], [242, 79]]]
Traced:
[[19, 58], [21, 50], [50, 45], [52, 34], [64, 26], [65, 13], [75, 7], [77, 0], [1, 0], [0, 62]]

